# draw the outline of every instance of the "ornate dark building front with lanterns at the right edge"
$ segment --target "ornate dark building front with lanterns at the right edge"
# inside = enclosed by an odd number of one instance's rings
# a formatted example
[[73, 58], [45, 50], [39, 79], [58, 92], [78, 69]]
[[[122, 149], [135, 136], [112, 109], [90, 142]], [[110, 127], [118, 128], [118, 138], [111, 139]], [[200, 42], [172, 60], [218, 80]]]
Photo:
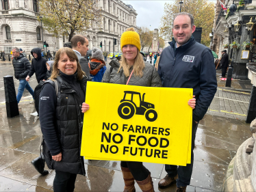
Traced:
[[[214, 20], [214, 38], [211, 44], [211, 49], [215, 51], [219, 58], [220, 52], [225, 49], [225, 44], [231, 44], [236, 41], [240, 44], [240, 49], [233, 49], [231, 46], [227, 46], [227, 53], [231, 55], [231, 64], [233, 66], [233, 79], [248, 79], [248, 70], [246, 69], [246, 63], [252, 59], [252, 55], [255, 53], [256, 46], [253, 49], [244, 49], [243, 42], [253, 42], [256, 44], [256, 27], [253, 25], [251, 30], [248, 30], [246, 23], [249, 23], [250, 18], [253, 17], [252, 22], [256, 22], [256, 1], [246, 1], [244, 6], [238, 4], [239, 1], [221, 0], [229, 10], [233, 10], [228, 14], [225, 13], [218, 0], [216, 0], [216, 17]], [[244, 1], [243, 1], [244, 2]], [[235, 3], [235, 5], [233, 4]], [[239, 9], [238, 9], [239, 8]], [[240, 29], [235, 31], [235, 25], [238, 23]], [[242, 51], [249, 51], [249, 57], [247, 59], [242, 58]], [[256, 60], [256, 59], [255, 59]]]

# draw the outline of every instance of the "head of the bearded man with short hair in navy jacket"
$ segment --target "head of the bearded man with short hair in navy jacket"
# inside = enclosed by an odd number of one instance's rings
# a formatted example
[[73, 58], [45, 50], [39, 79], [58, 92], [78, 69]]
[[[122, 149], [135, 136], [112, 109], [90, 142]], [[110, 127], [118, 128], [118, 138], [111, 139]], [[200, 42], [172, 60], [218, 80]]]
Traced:
[[178, 47], [188, 42], [194, 30], [196, 30], [196, 26], [191, 26], [191, 20], [188, 15], [177, 16], [173, 21], [173, 26], [173, 38], [175, 38]]

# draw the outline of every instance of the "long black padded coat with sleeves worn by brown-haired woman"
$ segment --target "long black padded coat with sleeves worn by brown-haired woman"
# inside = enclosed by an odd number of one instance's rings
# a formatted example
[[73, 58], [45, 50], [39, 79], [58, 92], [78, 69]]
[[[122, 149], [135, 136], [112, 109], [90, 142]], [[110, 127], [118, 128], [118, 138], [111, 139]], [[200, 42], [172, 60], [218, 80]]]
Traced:
[[[49, 80], [40, 94], [39, 111], [43, 153], [49, 169], [85, 175], [84, 157], [80, 156], [83, 113], [88, 77], [77, 81], [74, 77], [57, 77], [59, 92]], [[68, 81], [67, 81], [68, 79]], [[62, 152], [62, 161], [53, 161], [52, 155]]]

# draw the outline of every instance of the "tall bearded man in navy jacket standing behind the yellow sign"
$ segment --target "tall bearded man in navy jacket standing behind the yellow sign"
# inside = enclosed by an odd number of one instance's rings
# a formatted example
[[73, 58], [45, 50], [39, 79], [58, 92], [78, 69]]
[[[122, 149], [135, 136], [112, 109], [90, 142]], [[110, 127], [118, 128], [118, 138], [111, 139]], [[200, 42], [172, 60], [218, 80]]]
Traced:
[[159, 59], [158, 73], [164, 87], [193, 88], [196, 108], [192, 120], [191, 163], [187, 166], [165, 165], [167, 175], [159, 181], [159, 188], [166, 188], [177, 181], [176, 191], [185, 191], [194, 161], [194, 139], [199, 121], [203, 118], [216, 93], [217, 81], [212, 51], [194, 40], [192, 14], [181, 12], [172, 23], [172, 42]]

